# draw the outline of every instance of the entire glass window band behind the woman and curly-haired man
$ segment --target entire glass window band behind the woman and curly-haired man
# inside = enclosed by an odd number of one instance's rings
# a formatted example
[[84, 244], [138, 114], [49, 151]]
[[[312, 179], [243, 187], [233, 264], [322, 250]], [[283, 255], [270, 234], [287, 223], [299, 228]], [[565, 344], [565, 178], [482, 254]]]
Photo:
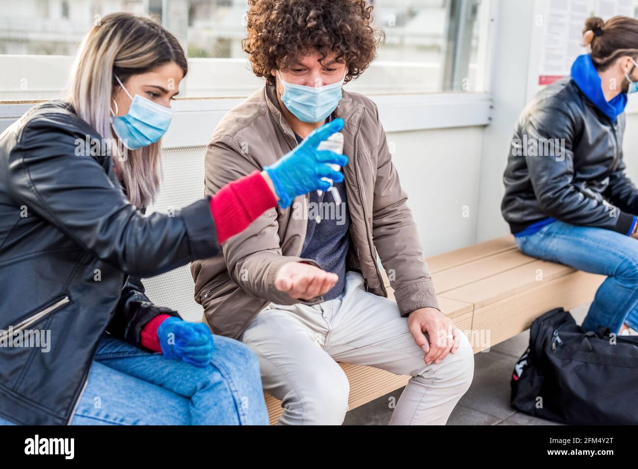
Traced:
[[[369, 0], [386, 41], [348, 89], [484, 91], [477, 77], [487, 24], [479, 18], [488, 2]], [[0, 101], [62, 96], [82, 36], [114, 11], [156, 15], [175, 34], [190, 65], [181, 97], [248, 96], [263, 82], [251, 73], [241, 47], [246, 8], [246, 0], [0, 0]]]

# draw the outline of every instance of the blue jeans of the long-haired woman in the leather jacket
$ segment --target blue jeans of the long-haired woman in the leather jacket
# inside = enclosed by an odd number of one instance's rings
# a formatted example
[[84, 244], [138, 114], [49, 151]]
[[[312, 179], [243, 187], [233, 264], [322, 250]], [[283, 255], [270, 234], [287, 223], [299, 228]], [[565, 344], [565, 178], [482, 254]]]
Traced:
[[104, 335], [71, 424], [267, 425], [254, 352], [218, 335], [214, 347], [197, 368]]

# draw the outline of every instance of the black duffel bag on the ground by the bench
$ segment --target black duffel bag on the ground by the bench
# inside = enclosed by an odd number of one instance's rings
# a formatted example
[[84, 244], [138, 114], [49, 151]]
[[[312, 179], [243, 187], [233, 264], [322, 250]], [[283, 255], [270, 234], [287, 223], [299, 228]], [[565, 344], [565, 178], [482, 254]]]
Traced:
[[565, 424], [638, 424], [638, 336], [584, 332], [563, 308], [531, 325], [512, 407]]

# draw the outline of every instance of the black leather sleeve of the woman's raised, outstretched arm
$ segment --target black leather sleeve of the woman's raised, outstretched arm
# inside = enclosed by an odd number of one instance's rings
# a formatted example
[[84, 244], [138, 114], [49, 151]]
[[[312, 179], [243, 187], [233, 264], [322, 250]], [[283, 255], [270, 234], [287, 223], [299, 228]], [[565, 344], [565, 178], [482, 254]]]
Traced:
[[22, 129], [8, 174], [19, 206], [26, 205], [98, 259], [135, 277], [152, 277], [221, 254], [207, 199], [174, 216], [145, 217], [96, 157], [76, 154], [78, 139], [83, 141], [90, 131], [78, 128], [77, 121], [52, 113]]

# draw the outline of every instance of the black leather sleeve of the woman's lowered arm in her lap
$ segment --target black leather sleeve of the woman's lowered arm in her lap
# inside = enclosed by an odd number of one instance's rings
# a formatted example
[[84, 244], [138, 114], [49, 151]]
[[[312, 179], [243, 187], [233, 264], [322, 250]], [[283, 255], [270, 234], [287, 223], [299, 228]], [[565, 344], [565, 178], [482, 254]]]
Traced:
[[142, 281], [129, 277], [122, 289], [115, 314], [107, 327], [107, 332], [125, 342], [142, 347], [140, 334], [147, 322], [159, 314], [175, 317], [180, 315], [170, 308], [154, 305], [146, 296]]

